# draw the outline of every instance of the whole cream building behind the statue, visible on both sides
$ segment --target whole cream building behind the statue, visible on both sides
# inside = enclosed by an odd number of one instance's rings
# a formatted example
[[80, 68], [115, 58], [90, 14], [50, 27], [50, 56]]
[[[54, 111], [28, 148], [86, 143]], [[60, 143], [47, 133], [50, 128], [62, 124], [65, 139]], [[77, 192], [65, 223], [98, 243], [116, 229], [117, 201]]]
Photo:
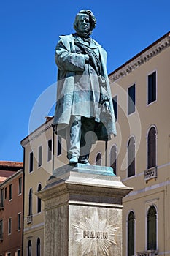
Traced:
[[[133, 192], [123, 200], [123, 256], [170, 255], [170, 35], [165, 34], [109, 75], [117, 136], [98, 142], [90, 164], [112, 166]], [[66, 165], [66, 141], [53, 118], [21, 141], [24, 148], [24, 253], [43, 255], [43, 202], [53, 169]], [[114, 219], [113, 219], [114, 222]]]

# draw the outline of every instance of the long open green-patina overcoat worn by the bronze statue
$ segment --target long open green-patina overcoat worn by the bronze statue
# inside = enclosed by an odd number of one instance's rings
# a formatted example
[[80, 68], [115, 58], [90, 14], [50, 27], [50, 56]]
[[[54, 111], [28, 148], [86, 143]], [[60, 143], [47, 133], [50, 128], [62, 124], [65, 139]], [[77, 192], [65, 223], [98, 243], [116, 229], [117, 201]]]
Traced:
[[[100, 121], [96, 122], [95, 132], [98, 140], [109, 140], [111, 138], [110, 135], [116, 135], [116, 127], [107, 75], [107, 52], [94, 39], [93, 42], [98, 47], [102, 68], [101, 75], [106, 80], [106, 93], [109, 95], [109, 110], [103, 111], [101, 106]], [[55, 50], [55, 62], [58, 66], [58, 86], [53, 127], [56, 134], [66, 138], [66, 127], [69, 126], [72, 113], [74, 78], [77, 72], [83, 72], [85, 68], [85, 54], [76, 53], [74, 35], [60, 37]]]

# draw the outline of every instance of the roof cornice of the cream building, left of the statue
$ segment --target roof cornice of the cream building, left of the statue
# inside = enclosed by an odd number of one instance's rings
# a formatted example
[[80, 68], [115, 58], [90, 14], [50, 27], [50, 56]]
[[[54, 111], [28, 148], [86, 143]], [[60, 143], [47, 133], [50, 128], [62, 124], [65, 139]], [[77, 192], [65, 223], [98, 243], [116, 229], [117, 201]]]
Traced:
[[53, 127], [53, 118], [50, 121], [46, 121], [45, 124], [42, 124], [41, 127], [36, 129], [34, 132], [32, 132], [30, 135], [28, 135], [25, 139], [23, 139], [20, 144], [25, 147], [28, 143], [30, 143], [33, 140], [36, 140], [36, 138], [39, 138], [40, 135], [42, 135], [44, 132], [47, 131], [47, 129], [50, 129], [50, 127]]

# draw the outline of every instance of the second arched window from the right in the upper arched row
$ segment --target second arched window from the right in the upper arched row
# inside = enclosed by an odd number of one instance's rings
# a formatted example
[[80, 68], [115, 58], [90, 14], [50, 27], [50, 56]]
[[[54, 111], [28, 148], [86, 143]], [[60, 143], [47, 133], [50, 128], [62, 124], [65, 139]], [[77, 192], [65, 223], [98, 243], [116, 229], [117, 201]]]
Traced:
[[128, 177], [135, 175], [135, 140], [131, 137], [128, 140]]

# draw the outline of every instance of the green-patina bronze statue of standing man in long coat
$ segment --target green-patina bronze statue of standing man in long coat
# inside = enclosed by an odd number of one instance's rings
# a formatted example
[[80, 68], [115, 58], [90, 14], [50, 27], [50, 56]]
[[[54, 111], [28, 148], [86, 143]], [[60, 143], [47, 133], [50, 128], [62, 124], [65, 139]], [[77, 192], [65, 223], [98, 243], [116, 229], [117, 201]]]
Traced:
[[66, 139], [70, 164], [89, 164], [96, 140], [116, 135], [112, 96], [107, 75], [107, 53], [90, 37], [96, 18], [81, 10], [75, 34], [61, 36], [55, 50], [58, 86], [54, 132]]

